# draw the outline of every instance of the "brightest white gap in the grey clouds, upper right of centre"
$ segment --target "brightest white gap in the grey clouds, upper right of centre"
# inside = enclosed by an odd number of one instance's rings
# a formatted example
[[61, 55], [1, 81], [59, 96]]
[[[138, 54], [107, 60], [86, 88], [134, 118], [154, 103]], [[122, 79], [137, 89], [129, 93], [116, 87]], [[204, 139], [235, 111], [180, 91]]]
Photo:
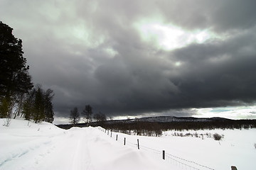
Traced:
[[185, 47], [193, 42], [203, 43], [210, 38], [215, 38], [209, 30], [183, 30], [177, 26], [164, 25], [161, 23], [135, 23], [142, 40], [153, 42], [164, 50], [174, 50]]

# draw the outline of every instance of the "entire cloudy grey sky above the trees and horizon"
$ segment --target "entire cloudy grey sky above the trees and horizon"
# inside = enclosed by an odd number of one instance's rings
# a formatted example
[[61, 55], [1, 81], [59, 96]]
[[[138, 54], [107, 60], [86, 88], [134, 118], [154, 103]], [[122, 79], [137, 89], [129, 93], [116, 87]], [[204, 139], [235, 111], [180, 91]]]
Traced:
[[0, 0], [55, 119], [256, 118], [256, 1]]

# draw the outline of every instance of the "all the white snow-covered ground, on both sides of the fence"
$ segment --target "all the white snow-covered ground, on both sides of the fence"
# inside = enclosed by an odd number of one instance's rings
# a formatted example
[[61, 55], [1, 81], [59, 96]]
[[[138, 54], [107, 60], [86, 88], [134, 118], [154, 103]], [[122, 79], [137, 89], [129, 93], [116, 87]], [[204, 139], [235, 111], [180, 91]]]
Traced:
[[256, 169], [256, 129], [189, 131], [218, 132], [224, 135], [219, 142], [173, 136], [174, 131], [142, 137], [91, 127], [62, 130], [25, 120], [11, 120], [9, 127], [3, 126], [4, 119], [0, 123], [0, 169]]

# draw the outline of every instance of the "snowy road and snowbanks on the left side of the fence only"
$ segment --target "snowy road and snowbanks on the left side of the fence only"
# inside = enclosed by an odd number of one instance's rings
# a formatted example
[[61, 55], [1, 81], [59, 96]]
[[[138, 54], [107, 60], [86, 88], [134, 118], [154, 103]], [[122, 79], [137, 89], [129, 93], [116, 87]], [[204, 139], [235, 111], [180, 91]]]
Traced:
[[[0, 169], [97, 170], [170, 169], [134, 147], [120, 145], [97, 128], [60, 130], [53, 125], [29, 126], [0, 131]], [[161, 160], [160, 160], [161, 162]], [[175, 169], [178, 169], [177, 167]]]

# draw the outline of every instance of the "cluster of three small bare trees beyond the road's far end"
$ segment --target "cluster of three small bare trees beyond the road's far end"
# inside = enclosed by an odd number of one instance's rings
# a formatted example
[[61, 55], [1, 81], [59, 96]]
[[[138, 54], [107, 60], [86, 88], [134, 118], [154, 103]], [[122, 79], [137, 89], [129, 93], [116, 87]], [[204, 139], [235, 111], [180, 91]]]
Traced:
[[[92, 106], [86, 105], [85, 108], [82, 110], [82, 115], [85, 116], [86, 123], [92, 122], [94, 120], [95, 122], [103, 122], [106, 121], [106, 115], [104, 113], [96, 113], [92, 117]], [[78, 108], [75, 107], [70, 111], [70, 123], [75, 125], [78, 124], [80, 120], [80, 113], [78, 112]]]

